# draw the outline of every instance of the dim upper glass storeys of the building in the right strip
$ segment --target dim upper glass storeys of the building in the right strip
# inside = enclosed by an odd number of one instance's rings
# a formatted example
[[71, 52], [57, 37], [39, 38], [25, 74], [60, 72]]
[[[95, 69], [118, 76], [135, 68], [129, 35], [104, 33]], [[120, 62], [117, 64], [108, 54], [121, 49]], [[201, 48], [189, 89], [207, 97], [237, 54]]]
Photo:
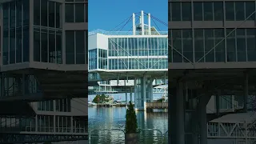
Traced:
[[169, 1], [169, 62], [255, 62], [255, 1]]

